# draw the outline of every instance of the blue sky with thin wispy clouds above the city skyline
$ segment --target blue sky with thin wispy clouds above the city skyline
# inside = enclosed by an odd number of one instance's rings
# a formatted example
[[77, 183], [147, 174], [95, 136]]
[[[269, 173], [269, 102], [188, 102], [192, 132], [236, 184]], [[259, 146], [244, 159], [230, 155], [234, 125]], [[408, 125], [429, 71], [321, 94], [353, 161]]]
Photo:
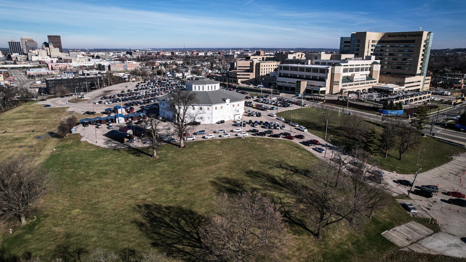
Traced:
[[61, 35], [64, 48], [339, 48], [351, 32], [431, 31], [466, 48], [464, 0], [2, 0], [0, 46]]

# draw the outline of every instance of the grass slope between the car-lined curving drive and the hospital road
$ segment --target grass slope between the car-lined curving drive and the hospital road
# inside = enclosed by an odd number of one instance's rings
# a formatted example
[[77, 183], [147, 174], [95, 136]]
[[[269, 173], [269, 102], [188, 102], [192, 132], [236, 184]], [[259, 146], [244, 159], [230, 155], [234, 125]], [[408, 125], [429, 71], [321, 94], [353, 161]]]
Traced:
[[[303, 108], [298, 110], [288, 110], [279, 112], [278, 116], [284, 117], [285, 119], [292, 118], [293, 122], [299, 123], [307, 127], [308, 131], [324, 138], [325, 136], [325, 124], [320, 118], [320, 111], [316, 108]], [[348, 134], [340, 129], [341, 117], [348, 117], [347, 115], [338, 114], [335, 115], [333, 121], [329, 121], [327, 137], [332, 135], [331, 143], [333, 145], [348, 145], [351, 144], [351, 139]], [[383, 126], [380, 123], [374, 123], [366, 121], [370, 125], [374, 125], [378, 132], [381, 132]], [[343, 128], [344, 128], [343, 121]], [[375, 155], [377, 163], [380, 168], [387, 171], [396, 171], [402, 174], [409, 174], [417, 171], [419, 167], [422, 167], [423, 171], [430, 170], [436, 166], [443, 165], [451, 160], [451, 155], [466, 152], [465, 149], [445, 144], [437, 141], [434, 138], [421, 138], [421, 153], [419, 154], [419, 166], [416, 166], [416, 159], [418, 157], [419, 147], [413, 148], [411, 151], [403, 154], [403, 160], [399, 161], [399, 153], [396, 148], [389, 151], [389, 156], [385, 159], [384, 152], [379, 152]], [[322, 143], [321, 140], [321, 143]]]

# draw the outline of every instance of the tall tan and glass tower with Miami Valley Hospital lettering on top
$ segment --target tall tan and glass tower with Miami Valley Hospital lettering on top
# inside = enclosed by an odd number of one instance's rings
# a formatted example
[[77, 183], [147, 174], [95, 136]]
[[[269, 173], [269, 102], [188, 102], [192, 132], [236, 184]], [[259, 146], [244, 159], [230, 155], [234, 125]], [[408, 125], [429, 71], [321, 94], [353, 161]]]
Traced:
[[[432, 32], [356, 32], [340, 38], [340, 54], [380, 60], [380, 81], [412, 84], [423, 91], [430, 77], [425, 77], [432, 46]], [[427, 86], [425, 86], [427, 84]], [[414, 89], [414, 88], [413, 88]]]

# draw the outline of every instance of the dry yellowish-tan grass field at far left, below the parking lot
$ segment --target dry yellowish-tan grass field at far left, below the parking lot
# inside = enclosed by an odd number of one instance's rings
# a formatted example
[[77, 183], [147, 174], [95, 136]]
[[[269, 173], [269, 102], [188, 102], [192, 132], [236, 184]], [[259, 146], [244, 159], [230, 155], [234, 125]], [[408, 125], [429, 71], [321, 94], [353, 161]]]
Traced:
[[3, 156], [24, 154], [40, 163], [58, 144], [58, 139], [48, 136], [48, 132], [57, 128], [58, 119], [70, 114], [67, 108], [44, 108], [33, 103], [24, 103], [0, 114], [0, 153]]

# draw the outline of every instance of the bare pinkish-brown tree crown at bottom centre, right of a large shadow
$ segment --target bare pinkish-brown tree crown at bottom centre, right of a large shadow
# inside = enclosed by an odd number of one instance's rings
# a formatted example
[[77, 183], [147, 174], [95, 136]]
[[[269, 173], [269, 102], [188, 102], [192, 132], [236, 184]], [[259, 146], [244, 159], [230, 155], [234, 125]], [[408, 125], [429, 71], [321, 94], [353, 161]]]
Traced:
[[206, 260], [256, 261], [280, 251], [285, 228], [271, 200], [250, 192], [215, 198], [219, 211], [206, 228]]

